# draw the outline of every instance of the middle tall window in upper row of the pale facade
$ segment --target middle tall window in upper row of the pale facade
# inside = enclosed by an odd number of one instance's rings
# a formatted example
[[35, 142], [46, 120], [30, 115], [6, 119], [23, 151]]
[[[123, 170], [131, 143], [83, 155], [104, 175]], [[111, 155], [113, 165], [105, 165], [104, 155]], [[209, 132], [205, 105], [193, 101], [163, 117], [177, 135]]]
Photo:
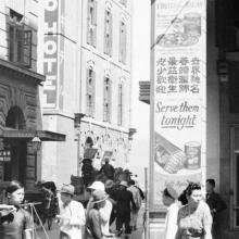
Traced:
[[105, 10], [104, 16], [104, 53], [112, 56], [112, 13]]

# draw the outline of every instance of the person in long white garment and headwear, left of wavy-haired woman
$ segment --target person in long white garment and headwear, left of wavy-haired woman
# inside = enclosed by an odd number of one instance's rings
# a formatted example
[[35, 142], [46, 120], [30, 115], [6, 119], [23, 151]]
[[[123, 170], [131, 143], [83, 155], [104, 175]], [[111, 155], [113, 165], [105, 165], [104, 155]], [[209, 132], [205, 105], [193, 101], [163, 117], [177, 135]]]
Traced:
[[171, 185], [167, 185], [163, 190], [163, 204], [167, 206], [164, 239], [174, 239], [177, 232], [177, 214], [179, 210], [177, 199], [177, 191]]

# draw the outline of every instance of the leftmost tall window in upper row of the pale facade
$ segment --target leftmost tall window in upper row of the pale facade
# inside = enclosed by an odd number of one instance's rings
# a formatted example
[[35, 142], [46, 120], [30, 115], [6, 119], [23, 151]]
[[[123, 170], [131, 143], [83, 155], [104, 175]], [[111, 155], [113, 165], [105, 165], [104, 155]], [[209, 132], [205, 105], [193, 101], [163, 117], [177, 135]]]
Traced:
[[88, 0], [87, 43], [97, 46], [97, 1]]

